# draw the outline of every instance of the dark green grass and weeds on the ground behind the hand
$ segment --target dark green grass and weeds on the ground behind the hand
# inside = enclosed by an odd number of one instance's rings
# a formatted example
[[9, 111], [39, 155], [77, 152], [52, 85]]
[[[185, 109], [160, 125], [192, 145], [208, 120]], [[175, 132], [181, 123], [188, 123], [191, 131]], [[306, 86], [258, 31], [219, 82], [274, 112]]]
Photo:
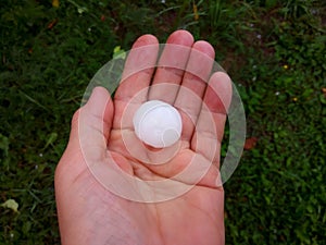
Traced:
[[175, 28], [214, 46], [258, 139], [225, 184], [227, 244], [325, 244], [322, 2], [2, 2], [0, 204], [20, 206], [0, 207], [0, 244], [60, 243], [53, 172], [86, 86], [114, 47]]

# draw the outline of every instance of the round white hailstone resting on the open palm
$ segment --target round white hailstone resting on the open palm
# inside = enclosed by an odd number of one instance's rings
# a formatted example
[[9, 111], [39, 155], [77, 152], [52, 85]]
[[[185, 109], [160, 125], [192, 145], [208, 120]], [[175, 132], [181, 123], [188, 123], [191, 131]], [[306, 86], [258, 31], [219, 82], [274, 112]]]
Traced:
[[133, 122], [137, 137], [155, 148], [172, 146], [181, 135], [183, 122], [179, 112], [160, 100], [142, 103]]

